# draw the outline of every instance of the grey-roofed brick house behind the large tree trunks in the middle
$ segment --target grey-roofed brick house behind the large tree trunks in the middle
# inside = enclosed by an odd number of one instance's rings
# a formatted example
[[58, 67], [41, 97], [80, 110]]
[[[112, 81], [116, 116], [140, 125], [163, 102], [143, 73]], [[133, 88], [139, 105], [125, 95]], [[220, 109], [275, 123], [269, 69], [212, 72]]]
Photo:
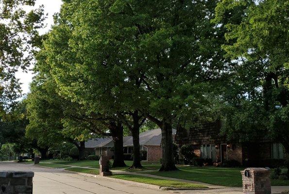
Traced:
[[[176, 130], [173, 129], [173, 135]], [[139, 144], [141, 150], [147, 151], [147, 161], [159, 161], [162, 158], [161, 148], [162, 133], [161, 129], [148, 130], [139, 134]], [[95, 154], [100, 156], [113, 156], [113, 139], [112, 137], [107, 138], [96, 138], [85, 142], [86, 149], [93, 149]], [[133, 153], [133, 137], [123, 137], [123, 152]]]

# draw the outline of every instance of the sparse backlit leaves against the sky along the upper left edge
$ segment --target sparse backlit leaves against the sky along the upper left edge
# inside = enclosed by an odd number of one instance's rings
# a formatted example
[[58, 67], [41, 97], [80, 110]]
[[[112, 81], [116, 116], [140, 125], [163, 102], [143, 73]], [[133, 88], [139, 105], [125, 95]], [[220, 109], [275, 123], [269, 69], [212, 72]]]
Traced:
[[0, 106], [5, 109], [20, 96], [15, 73], [32, 64], [35, 46], [39, 46], [37, 30], [43, 27], [43, 8], [29, 13], [23, 9], [33, 5], [34, 0], [0, 1]]

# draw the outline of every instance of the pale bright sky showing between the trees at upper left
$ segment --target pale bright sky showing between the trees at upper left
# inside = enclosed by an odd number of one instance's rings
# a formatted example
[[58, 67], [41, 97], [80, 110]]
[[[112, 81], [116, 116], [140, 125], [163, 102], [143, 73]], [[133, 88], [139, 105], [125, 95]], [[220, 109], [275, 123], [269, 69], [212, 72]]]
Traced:
[[[53, 24], [53, 14], [59, 12], [62, 1], [61, 0], [36, 0], [35, 7], [39, 7], [40, 5], [44, 5], [44, 11], [48, 14], [45, 23], [47, 27], [41, 30], [41, 34], [48, 32], [51, 29], [51, 25]], [[30, 67], [32, 68], [32, 67]], [[22, 93], [27, 94], [29, 92], [29, 83], [32, 81], [32, 72], [29, 71], [27, 73], [19, 70], [16, 74], [16, 77], [21, 82]]]

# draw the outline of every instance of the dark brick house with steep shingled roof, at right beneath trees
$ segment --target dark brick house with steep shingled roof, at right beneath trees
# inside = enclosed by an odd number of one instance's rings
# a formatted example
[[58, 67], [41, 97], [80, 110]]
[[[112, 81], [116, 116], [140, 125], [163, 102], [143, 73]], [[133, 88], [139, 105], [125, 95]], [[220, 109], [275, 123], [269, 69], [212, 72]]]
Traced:
[[272, 160], [284, 162], [285, 155], [281, 144], [266, 138], [259, 138], [250, 142], [228, 142], [220, 135], [221, 121], [204, 122], [189, 129], [178, 129], [175, 143], [182, 146], [193, 145], [194, 153], [203, 159], [213, 162], [238, 161], [241, 165], [270, 166]]

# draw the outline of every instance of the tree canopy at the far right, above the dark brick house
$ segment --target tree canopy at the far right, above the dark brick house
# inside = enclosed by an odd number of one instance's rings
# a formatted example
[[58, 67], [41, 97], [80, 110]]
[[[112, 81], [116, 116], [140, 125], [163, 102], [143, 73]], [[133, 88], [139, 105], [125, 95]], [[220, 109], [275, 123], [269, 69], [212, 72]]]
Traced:
[[[226, 99], [227, 129], [244, 140], [264, 134], [289, 151], [287, 0], [222, 0], [214, 22], [226, 28], [226, 56], [238, 61]], [[230, 91], [230, 92], [228, 92]]]

